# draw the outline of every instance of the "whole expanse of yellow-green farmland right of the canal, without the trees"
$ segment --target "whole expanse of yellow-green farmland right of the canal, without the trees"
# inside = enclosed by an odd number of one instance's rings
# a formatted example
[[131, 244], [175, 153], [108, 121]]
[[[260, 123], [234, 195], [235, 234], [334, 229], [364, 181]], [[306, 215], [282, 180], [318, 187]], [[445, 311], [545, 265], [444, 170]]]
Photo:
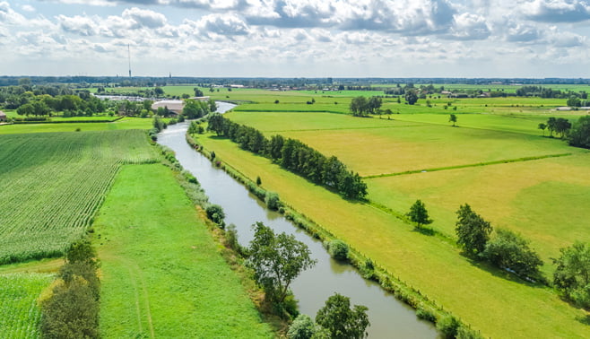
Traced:
[[[289, 136], [338, 156], [351, 170], [368, 177], [369, 203], [344, 202], [228, 140], [204, 136], [199, 143], [249, 178], [260, 176], [265, 188], [279, 192], [287, 204], [484, 335], [586, 333], [587, 313], [568, 306], [550, 288], [470, 262], [452, 240], [458, 206], [472, 204], [494, 228], [516, 230], [530, 239], [549, 278], [554, 270], [551, 257], [559, 254], [559, 248], [575, 240], [590, 241], [586, 222], [590, 214], [584, 207], [590, 199], [590, 182], [583, 175], [590, 168], [587, 152], [543, 138], [537, 129], [547, 117], [574, 120], [586, 112], [556, 112], [552, 109], [563, 105], [560, 100], [539, 98], [455, 100], [452, 105], [457, 109], [451, 111], [443, 108], [442, 99], [432, 100], [437, 106], [431, 108], [386, 99], [383, 108], [399, 109], [400, 114], [360, 118], [328, 113], [321, 105], [334, 98], [314, 98], [312, 105], [303, 101], [309, 100], [305, 96], [291, 104], [293, 95], [276, 94], [276, 99], [269, 95], [265, 100], [259, 94], [256, 103], [244, 104], [226, 117], [267, 137]], [[332, 105], [347, 107], [338, 100]], [[448, 122], [450, 112], [456, 112], [459, 127]], [[431, 226], [442, 237], [414, 232], [412, 225], [399, 219], [416, 199], [426, 204], [435, 220]], [[485, 315], [476, 310], [480, 307], [488, 309]]]

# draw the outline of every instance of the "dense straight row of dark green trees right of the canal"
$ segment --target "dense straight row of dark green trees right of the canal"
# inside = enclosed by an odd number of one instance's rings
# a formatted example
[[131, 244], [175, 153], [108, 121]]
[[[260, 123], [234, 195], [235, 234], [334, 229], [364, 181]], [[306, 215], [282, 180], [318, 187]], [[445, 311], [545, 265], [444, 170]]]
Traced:
[[299, 140], [285, 139], [282, 135], [266, 139], [256, 128], [236, 124], [221, 114], [209, 117], [207, 128], [217, 135], [229, 137], [243, 149], [261, 154], [287, 170], [335, 189], [343, 196], [361, 199], [367, 195], [367, 184], [358, 173], [349, 171], [335, 156], [327, 158]]

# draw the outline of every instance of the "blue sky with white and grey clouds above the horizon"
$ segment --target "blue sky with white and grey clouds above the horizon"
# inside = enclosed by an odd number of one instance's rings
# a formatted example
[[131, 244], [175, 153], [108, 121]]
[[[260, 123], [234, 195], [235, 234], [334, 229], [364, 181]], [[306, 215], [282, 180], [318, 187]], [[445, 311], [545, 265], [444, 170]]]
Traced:
[[590, 0], [0, 0], [0, 75], [590, 78]]

